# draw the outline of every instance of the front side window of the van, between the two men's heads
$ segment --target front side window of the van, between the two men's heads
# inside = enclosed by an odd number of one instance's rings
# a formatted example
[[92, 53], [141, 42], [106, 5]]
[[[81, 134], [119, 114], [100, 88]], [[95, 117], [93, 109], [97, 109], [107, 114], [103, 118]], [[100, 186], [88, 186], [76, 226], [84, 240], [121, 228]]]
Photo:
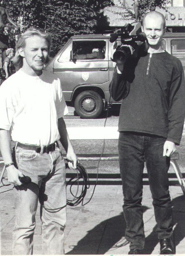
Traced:
[[74, 59], [105, 59], [105, 41], [73, 41]]

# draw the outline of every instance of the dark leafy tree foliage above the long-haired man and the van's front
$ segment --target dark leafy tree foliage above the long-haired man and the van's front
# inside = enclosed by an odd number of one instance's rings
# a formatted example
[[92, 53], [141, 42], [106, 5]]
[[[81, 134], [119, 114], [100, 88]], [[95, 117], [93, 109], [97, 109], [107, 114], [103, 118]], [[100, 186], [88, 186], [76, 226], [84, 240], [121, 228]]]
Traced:
[[[70, 36], [95, 33], [99, 11], [109, 5], [113, 0], [7, 0], [5, 7], [19, 26], [22, 18], [22, 32], [34, 26], [51, 33], [57, 52]], [[14, 41], [10, 37], [11, 46]]]

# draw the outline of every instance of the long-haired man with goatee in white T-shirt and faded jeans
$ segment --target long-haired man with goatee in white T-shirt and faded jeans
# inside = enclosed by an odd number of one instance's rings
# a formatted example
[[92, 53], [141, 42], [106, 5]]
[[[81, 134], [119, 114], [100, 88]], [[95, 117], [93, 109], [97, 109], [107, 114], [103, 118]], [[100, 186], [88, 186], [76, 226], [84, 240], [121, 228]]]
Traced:
[[[63, 119], [60, 81], [43, 70], [50, 46], [45, 32], [23, 33], [14, 58], [19, 70], [0, 87], [0, 149], [15, 194], [13, 254], [33, 254], [38, 200], [43, 254], [64, 254], [66, 181], [59, 140], [73, 161], [70, 168], [77, 167], [77, 157]], [[16, 142], [13, 156], [10, 138]]]

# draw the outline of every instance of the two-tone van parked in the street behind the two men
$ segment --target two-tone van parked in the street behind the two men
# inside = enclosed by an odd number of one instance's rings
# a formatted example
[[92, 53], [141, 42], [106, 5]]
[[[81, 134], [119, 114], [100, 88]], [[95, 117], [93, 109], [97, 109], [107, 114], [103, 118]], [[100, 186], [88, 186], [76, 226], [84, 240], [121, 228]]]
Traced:
[[[108, 89], [116, 65], [109, 39], [103, 34], [72, 36], [46, 67], [59, 77], [67, 104], [81, 118], [97, 118], [107, 103], [120, 103], [110, 98]], [[162, 42], [185, 70], [185, 33], [166, 33]]]

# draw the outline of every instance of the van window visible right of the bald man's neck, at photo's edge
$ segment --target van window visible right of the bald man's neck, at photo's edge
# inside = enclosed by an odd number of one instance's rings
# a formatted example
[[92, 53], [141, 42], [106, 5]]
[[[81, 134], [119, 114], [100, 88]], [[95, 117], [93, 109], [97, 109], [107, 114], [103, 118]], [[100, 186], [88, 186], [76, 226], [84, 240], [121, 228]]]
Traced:
[[177, 58], [185, 58], [185, 40], [176, 39], [171, 41], [172, 55]]

